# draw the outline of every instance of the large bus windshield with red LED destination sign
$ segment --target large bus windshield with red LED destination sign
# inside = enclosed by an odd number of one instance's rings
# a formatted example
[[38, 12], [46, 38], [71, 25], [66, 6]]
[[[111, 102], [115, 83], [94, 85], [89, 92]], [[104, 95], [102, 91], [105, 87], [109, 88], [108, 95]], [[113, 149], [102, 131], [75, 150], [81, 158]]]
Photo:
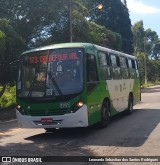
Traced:
[[25, 54], [20, 60], [19, 97], [55, 97], [83, 88], [83, 50], [64, 48]]

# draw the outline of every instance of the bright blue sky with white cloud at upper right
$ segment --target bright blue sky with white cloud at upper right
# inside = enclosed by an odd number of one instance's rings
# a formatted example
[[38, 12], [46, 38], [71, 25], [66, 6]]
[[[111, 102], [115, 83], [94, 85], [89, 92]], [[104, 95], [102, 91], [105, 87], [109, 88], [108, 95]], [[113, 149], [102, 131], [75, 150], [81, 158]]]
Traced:
[[127, 0], [132, 25], [143, 20], [144, 29], [150, 28], [160, 38], [160, 0]]

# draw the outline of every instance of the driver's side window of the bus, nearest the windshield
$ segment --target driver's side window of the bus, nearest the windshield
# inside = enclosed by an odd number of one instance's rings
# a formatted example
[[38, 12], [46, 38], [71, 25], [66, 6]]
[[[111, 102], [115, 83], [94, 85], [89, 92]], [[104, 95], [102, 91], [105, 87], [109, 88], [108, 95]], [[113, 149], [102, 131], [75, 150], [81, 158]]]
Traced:
[[87, 55], [87, 82], [98, 81], [96, 58], [94, 55]]

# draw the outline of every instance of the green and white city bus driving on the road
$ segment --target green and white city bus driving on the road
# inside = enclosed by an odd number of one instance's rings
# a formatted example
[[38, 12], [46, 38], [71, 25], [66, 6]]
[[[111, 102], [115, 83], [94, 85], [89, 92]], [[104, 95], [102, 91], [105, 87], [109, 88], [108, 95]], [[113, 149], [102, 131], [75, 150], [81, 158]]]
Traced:
[[141, 99], [135, 56], [91, 43], [61, 43], [22, 53], [16, 116], [24, 128], [106, 127]]

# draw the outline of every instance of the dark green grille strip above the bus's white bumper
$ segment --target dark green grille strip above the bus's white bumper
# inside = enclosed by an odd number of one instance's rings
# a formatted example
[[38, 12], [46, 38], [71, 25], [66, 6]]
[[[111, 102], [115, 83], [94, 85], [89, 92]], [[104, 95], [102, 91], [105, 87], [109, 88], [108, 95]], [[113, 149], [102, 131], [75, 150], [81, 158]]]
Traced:
[[29, 110], [28, 115], [31, 116], [55, 116], [64, 115], [67, 113], [67, 109], [49, 109], [49, 110]]

